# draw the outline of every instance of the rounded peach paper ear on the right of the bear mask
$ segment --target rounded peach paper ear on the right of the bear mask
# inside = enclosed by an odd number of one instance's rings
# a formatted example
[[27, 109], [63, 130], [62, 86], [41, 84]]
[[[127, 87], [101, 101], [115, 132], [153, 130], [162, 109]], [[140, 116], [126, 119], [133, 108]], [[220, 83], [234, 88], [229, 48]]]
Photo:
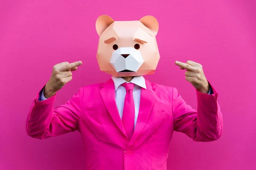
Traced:
[[145, 17], [142, 17], [140, 19], [140, 22], [143, 23], [144, 26], [148, 27], [154, 33], [154, 36], [157, 35], [159, 25], [155, 17], [147, 15]]

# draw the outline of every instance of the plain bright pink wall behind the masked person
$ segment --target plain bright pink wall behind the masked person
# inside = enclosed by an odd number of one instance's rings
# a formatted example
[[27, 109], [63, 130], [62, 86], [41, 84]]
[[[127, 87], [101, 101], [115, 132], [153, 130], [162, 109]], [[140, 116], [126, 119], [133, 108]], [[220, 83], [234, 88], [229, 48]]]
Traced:
[[224, 131], [215, 142], [174, 133], [169, 170], [256, 169], [255, 0], [0, 0], [0, 170], [82, 170], [78, 132], [46, 140], [26, 135], [36, 93], [58, 62], [82, 60], [55, 105], [78, 88], [105, 82], [96, 61], [101, 14], [114, 20], [153, 15], [160, 24], [160, 62], [151, 82], [174, 86], [192, 107], [195, 90], [175, 60], [204, 66], [219, 92]]

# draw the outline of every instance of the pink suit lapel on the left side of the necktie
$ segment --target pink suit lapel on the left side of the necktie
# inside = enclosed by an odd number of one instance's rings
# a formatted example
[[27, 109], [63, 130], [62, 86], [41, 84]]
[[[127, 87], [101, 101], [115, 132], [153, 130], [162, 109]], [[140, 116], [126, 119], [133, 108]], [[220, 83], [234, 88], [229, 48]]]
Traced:
[[108, 110], [108, 113], [112, 117], [113, 121], [115, 122], [119, 130], [121, 130], [121, 132], [126, 136], [125, 129], [122, 125], [122, 121], [116, 106], [115, 87], [113, 80], [110, 79], [108, 80], [108, 82], [105, 82], [105, 84], [102, 85], [102, 88], [99, 92], [102, 96], [103, 102]]

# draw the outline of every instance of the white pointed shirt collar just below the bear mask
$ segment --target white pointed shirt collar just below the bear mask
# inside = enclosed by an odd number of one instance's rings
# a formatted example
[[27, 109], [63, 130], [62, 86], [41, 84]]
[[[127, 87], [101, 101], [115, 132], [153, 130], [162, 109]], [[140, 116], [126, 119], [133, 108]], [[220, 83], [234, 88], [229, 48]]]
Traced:
[[[122, 85], [123, 83], [125, 83], [125, 79], [123, 79], [122, 77], [111, 77], [111, 79], [114, 82], [115, 85], [115, 91], [117, 90], [117, 88]], [[146, 87], [146, 82], [143, 76], [136, 76], [133, 79], [131, 79], [131, 83], [134, 83], [135, 85], [138, 85], [142, 88], [147, 89]]]

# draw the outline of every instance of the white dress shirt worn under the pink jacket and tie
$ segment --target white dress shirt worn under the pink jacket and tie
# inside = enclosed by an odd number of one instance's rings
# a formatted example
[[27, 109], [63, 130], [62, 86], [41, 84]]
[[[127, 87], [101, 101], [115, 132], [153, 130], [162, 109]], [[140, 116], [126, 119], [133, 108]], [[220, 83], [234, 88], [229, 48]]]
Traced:
[[[125, 79], [122, 77], [111, 77], [113, 79], [114, 85], [115, 85], [115, 96], [116, 96], [116, 106], [120, 115], [120, 118], [122, 119], [122, 112], [124, 108], [124, 102], [125, 102], [125, 94], [126, 90], [125, 87], [122, 86], [123, 83], [125, 83]], [[126, 82], [129, 83], [129, 82]], [[139, 114], [139, 108], [140, 108], [140, 93], [141, 88], [146, 89], [145, 79], [143, 76], [134, 77], [131, 80], [131, 83], [134, 83], [134, 90], [133, 90], [133, 97], [134, 97], [134, 106], [135, 106], [135, 116], [134, 116], [134, 128], [138, 119]], [[44, 89], [41, 93], [41, 99], [38, 101], [46, 100], [44, 97]]]

